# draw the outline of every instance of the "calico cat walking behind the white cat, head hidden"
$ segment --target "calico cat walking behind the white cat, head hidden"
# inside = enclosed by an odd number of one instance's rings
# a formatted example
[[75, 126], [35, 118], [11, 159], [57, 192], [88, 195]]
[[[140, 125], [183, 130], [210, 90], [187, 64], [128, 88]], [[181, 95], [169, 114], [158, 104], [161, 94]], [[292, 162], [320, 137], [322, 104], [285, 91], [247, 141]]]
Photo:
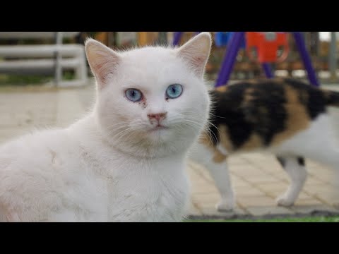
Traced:
[[290, 206], [307, 179], [304, 158], [337, 168], [339, 149], [328, 106], [339, 107], [339, 92], [292, 78], [246, 80], [210, 91], [210, 132], [204, 132], [191, 157], [209, 171], [220, 191], [218, 210], [234, 208], [227, 156], [266, 150], [290, 176], [278, 205]]

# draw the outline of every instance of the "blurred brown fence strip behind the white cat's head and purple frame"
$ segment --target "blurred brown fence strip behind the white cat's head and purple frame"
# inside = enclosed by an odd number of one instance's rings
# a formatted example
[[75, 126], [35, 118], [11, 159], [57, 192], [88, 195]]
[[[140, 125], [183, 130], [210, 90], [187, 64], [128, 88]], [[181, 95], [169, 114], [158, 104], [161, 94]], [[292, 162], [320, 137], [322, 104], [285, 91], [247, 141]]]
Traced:
[[[338, 32], [302, 32], [307, 50], [311, 56], [317, 75], [322, 82], [338, 82]], [[195, 32], [184, 32], [179, 44], [183, 44], [191, 38]], [[174, 32], [85, 32], [83, 37], [94, 35], [97, 40], [109, 47], [129, 47], [133, 44], [141, 46], [157, 43], [172, 43]], [[216, 38], [216, 32], [213, 37]], [[333, 44], [334, 40], [334, 44]], [[306, 78], [302, 59], [300, 59], [295, 41], [289, 38], [290, 54], [283, 63], [275, 64], [276, 76], [289, 76], [294, 78]], [[220, 71], [222, 59], [227, 50], [226, 45], [213, 43], [212, 53], [206, 73], [208, 78], [214, 80]], [[331, 52], [332, 51], [332, 52]], [[330, 52], [332, 54], [330, 54]], [[333, 59], [335, 59], [333, 64]], [[331, 66], [331, 64], [333, 66]], [[332, 72], [331, 72], [332, 71]], [[232, 79], [254, 78], [263, 75], [261, 66], [250, 61], [244, 49], [240, 49], [237, 62], [234, 66]]]

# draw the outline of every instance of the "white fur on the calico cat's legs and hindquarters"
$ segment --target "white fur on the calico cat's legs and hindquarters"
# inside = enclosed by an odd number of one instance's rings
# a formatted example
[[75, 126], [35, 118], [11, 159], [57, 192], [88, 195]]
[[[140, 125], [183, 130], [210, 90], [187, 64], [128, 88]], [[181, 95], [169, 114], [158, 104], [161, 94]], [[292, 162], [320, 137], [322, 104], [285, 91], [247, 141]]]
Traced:
[[[227, 153], [225, 149], [220, 152]], [[293, 205], [307, 179], [307, 170], [297, 163], [297, 157], [313, 159], [337, 169], [338, 178], [339, 148], [330, 116], [327, 113], [319, 115], [306, 130], [300, 131], [289, 140], [285, 140], [284, 143], [262, 150], [262, 152], [270, 152], [285, 159], [284, 169], [290, 176], [291, 182], [287, 191], [277, 198], [278, 205], [287, 207]], [[192, 147], [190, 158], [203, 164], [213, 177], [222, 197], [217, 205], [218, 210], [232, 210], [234, 208], [234, 191], [232, 191], [227, 162], [220, 164], [213, 162], [212, 152], [198, 143]]]

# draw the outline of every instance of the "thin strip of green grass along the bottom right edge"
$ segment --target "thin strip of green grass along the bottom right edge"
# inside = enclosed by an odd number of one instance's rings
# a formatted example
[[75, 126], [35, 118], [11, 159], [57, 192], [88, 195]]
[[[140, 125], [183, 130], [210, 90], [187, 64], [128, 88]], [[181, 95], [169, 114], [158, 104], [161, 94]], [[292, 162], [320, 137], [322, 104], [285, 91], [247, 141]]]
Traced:
[[339, 222], [339, 216], [275, 219], [189, 219], [185, 222]]

